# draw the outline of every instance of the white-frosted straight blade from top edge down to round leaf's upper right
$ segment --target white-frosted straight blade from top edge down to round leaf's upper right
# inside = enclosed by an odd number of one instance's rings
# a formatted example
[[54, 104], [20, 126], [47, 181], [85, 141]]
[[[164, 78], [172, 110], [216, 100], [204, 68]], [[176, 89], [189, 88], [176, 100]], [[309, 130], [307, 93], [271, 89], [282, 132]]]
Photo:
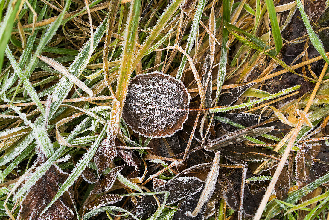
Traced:
[[[191, 30], [190, 30], [189, 38], [187, 40], [187, 44], [186, 44], [186, 48], [185, 48], [185, 51], [187, 52], [187, 54], [190, 54], [190, 52], [192, 50], [192, 47], [194, 45], [196, 33], [199, 30], [199, 24], [200, 24], [200, 21], [201, 21], [201, 16], [202, 16], [204, 7], [206, 6], [207, 2], [208, 2], [208, 0], [200, 0], [199, 1], [198, 7], [196, 9], [195, 16], [194, 16], [194, 19], [193, 19], [192, 27], [191, 27]], [[187, 57], [184, 55], [183, 59], [181, 61], [181, 64], [179, 65], [179, 68], [178, 68], [178, 72], [177, 72], [177, 75], [176, 75], [177, 79], [181, 79], [183, 71], [185, 69], [186, 61], [187, 61]]]

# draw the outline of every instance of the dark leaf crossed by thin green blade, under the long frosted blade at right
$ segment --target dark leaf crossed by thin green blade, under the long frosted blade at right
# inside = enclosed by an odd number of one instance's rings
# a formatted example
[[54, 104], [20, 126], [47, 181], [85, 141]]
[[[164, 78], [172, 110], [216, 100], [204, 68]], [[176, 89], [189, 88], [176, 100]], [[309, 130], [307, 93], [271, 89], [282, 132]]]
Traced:
[[[249, 113], [242, 113], [242, 112], [241, 113], [221, 114], [221, 116], [228, 118], [231, 121], [238, 123], [244, 127], [250, 127], [250, 126], [256, 125], [258, 123], [258, 118], [259, 118], [259, 115], [257, 115], [257, 114], [249, 114]], [[268, 118], [269, 117], [261, 116], [260, 122], [263, 122]], [[229, 131], [229, 132], [233, 132], [233, 131], [236, 131], [239, 129], [233, 125], [225, 124], [223, 122], [221, 122], [221, 125], [226, 131]]]

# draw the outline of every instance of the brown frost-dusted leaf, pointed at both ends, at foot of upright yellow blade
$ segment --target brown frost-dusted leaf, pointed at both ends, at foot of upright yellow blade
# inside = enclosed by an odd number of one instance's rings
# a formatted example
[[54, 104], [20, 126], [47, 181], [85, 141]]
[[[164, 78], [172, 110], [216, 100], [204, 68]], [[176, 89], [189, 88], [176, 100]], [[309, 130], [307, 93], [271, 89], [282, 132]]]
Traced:
[[98, 145], [94, 156], [98, 178], [117, 156], [113, 131], [110, 125], [108, 127], [107, 137]]

